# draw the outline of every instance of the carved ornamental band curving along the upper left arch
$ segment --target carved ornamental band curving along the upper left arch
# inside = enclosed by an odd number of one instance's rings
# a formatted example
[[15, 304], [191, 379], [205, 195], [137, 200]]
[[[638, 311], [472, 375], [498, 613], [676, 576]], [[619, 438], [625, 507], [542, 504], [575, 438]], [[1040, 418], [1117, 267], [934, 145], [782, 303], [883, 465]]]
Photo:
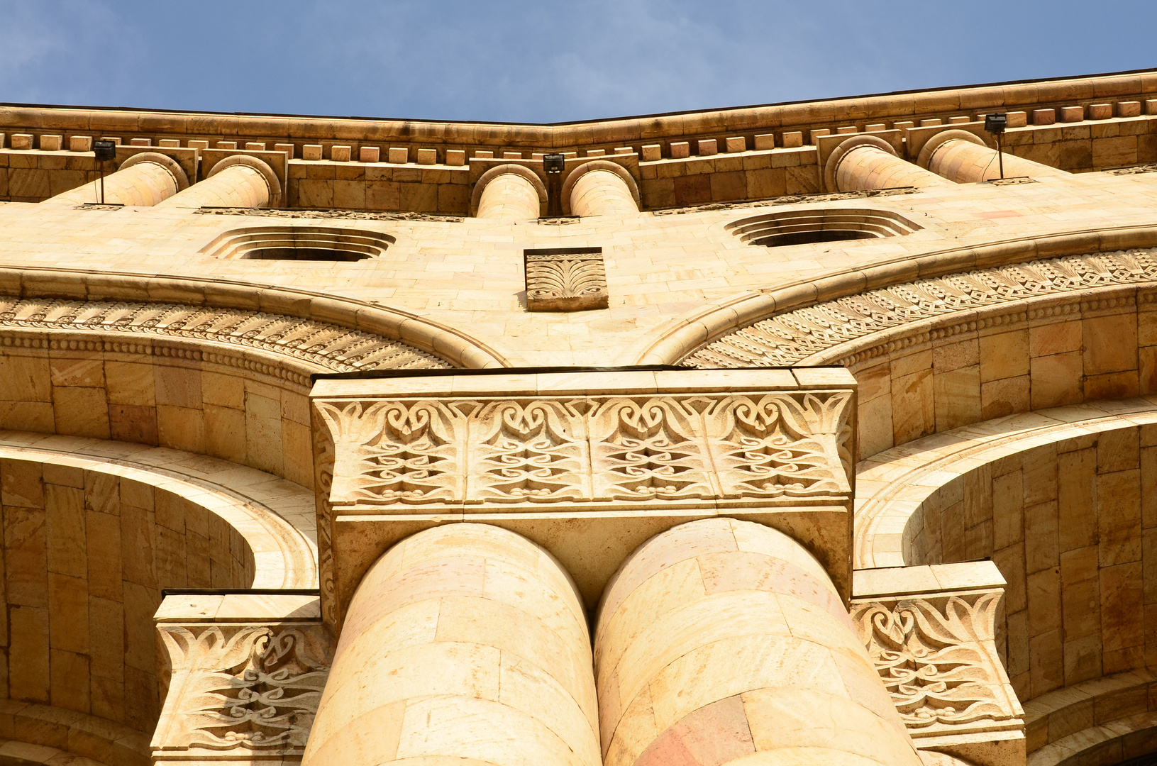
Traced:
[[0, 327], [124, 334], [126, 340], [137, 336], [209, 341], [288, 356], [330, 371], [449, 367], [399, 340], [242, 309], [0, 297]]

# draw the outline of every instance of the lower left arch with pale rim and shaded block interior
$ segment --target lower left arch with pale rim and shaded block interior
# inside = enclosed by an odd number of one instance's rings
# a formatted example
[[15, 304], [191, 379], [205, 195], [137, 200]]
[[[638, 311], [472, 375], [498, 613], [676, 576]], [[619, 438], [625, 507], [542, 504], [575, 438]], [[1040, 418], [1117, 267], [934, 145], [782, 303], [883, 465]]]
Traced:
[[[131, 752], [118, 749], [125, 730], [147, 745], [160, 715], [167, 682], [153, 617], [162, 589], [317, 587], [312, 493], [272, 474], [242, 477], [233, 463], [168, 449], [7, 432], [0, 481], [9, 638], [0, 688], [14, 707], [36, 706], [10, 724], [19, 742], [110, 766], [149, 763], [132, 738]], [[78, 727], [80, 742], [53, 739], [58, 726], [37, 723], [51, 712], [40, 706], [62, 708], [56, 723]]]

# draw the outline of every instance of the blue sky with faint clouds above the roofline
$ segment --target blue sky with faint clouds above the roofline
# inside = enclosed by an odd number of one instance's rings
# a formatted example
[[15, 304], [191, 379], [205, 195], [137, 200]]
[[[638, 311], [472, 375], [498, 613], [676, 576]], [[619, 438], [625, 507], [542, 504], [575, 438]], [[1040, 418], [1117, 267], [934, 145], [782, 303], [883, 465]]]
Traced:
[[0, 102], [551, 123], [1157, 67], [1157, 0], [0, 0]]

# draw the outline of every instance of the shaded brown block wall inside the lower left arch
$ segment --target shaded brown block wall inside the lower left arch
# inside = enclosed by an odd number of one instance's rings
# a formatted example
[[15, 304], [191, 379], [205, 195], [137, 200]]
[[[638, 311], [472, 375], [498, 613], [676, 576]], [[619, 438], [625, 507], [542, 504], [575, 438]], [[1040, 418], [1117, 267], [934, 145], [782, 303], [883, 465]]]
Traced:
[[165, 488], [32, 459], [0, 461], [0, 688], [150, 731], [161, 589], [248, 587], [245, 538]]

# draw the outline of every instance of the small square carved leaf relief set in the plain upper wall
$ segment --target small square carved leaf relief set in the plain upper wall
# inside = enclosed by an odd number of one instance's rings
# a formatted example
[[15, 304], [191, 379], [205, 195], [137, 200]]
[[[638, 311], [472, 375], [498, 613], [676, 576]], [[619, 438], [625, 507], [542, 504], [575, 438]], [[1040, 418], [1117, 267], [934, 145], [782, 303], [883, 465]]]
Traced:
[[602, 248], [526, 250], [526, 309], [581, 311], [607, 307]]

